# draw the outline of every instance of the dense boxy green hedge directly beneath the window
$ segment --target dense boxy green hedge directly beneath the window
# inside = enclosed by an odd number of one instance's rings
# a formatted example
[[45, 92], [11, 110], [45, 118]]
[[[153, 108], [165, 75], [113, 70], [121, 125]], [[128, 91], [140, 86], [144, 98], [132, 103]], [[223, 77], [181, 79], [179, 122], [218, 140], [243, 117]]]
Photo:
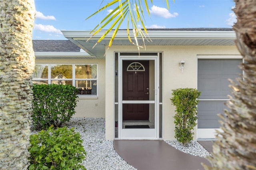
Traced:
[[60, 127], [75, 113], [76, 87], [71, 85], [33, 85], [32, 123], [34, 128]]

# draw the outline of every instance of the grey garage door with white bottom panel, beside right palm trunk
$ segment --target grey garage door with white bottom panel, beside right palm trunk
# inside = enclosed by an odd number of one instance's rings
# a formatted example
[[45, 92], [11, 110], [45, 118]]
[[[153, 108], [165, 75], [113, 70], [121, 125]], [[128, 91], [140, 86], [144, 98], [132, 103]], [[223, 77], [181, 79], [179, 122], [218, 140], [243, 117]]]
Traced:
[[228, 79], [242, 74], [238, 65], [242, 59], [198, 59], [198, 90], [202, 91], [198, 104], [198, 138], [214, 138], [220, 128], [218, 113], [227, 109], [224, 103], [231, 95]]

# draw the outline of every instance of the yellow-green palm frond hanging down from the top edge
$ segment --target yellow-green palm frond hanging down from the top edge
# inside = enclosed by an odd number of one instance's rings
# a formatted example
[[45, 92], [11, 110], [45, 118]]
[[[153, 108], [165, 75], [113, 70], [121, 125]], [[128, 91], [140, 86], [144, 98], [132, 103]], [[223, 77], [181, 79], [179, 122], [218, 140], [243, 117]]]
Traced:
[[[93, 33], [92, 36], [94, 36], [94, 35], [98, 34], [98, 32], [100, 32], [103, 28], [105, 28], [108, 24], [110, 24], [110, 22], [113, 22], [113, 24], [110, 25], [110, 27], [105, 31], [105, 33], [99, 38], [99, 40], [97, 41], [96, 44], [98, 44], [100, 41], [102, 41], [106, 37], [106, 35], [108, 33], [110, 33], [110, 31], [113, 30], [114, 27], [116, 26], [116, 28], [114, 29], [114, 32], [112, 34], [112, 37], [110, 39], [110, 42], [108, 44], [108, 47], [110, 47], [112, 45], [114, 38], [116, 37], [118, 29], [120, 28], [121, 24], [124, 22], [124, 19], [126, 19], [126, 17], [127, 17], [128, 40], [132, 44], [137, 45], [137, 47], [139, 48], [141, 46], [138, 45], [137, 37], [140, 36], [142, 38], [142, 41], [145, 46], [144, 40], [147, 40], [148, 42], [149, 42], [149, 40], [152, 41], [148, 35], [146, 26], [144, 24], [144, 22], [146, 20], [144, 17], [144, 9], [143, 9], [143, 5], [142, 5], [143, 2], [145, 4], [146, 11], [148, 12], [148, 16], [150, 16], [150, 10], [148, 8], [147, 0], [144, 0], [144, 1], [142, 1], [142, 0], [124, 0], [123, 2], [122, 1], [123, 0], [112, 0], [111, 2], [109, 2], [108, 4], [106, 4], [105, 6], [100, 8], [98, 11], [96, 11], [92, 15], [90, 15], [88, 18], [86, 18], [86, 20], [87, 20], [87, 19], [91, 18], [92, 16], [95, 16], [99, 12], [106, 10], [106, 8], [116, 5], [116, 8], [114, 8], [114, 10], [112, 10], [112, 12], [110, 12], [102, 21], [100, 21], [100, 23], [91, 31], [91, 33]], [[102, 0], [102, 2], [103, 2], [103, 0]], [[150, 0], [150, 2], [153, 4], [153, 0]], [[174, 0], [173, 0], [173, 2], [174, 2]], [[166, 0], [166, 5], [167, 5], [167, 8], [169, 9], [168, 0]], [[132, 6], [134, 6], [135, 8], [132, 8]], [[135, 43], [132, 41], [132, 39], [130, 37], [130, 29], [129, 29], [129, 21], [130, 20], [131, 20], [132, 32], [133, 32], [133, 37], [134, 37]], [[148, 36], [149, 40], [146, 37], [146, 35], [144, 34], [144, 32], [142, 31], [142, 29], [138, 28], [139, 22], [141, 23], [142, 28], [143, 28], [145, 34]], [[92, 38], [92, 36], [90, 38]], [[90, 38], [88, 40], [90, 40]]]

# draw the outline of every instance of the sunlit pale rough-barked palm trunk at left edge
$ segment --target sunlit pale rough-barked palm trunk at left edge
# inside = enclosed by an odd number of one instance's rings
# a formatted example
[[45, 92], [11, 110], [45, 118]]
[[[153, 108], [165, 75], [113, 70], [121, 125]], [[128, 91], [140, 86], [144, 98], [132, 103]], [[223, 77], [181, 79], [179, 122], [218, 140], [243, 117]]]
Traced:
[[28, 167], [34, 0], [0, 0], [0, 169]]

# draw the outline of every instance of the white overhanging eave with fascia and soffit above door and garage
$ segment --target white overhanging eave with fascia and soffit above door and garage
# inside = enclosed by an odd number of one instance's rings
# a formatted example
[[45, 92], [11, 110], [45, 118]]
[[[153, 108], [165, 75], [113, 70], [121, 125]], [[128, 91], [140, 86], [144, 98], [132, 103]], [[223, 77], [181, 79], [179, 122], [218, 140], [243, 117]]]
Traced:
[[[113, 32], [98, 43], [94, 48], [93, 46], [98, 39], [104, 34], [104, 31], [98, 35], [91, 37], [90, 31], [62, 31], [63, 35], [84, 49], [90, 55], [103, 58], [106, 46], [110, 41]], [[132, 35], [130, 33], [130, 35]], [[145, 45], [235, 45], [234, 40], [236, 34], [231, 29], [190, 29], [190, 30], [172, 30], [172, 29], [157, 29], [148, 30], [148, 35], [152, 41], [144, 40]], [[88, 42], [86, 42], [88, 40]], [[144, 45], [141, 38], [138, 38], [138, 44]], [[112, 45], [132, 45], [127, 38], [126, 30], [119, 30]]]

